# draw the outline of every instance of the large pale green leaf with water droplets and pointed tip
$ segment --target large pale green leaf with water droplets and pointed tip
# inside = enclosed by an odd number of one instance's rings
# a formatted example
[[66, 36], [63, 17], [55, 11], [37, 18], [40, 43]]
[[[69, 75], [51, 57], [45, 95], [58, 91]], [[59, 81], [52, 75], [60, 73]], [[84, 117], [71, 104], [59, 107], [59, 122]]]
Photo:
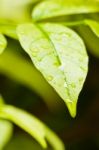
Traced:
[[88, 57], [81, 38], [59, 24], [24, 24], [17, 29], [20, 43], [36, 68], [76, 115], [76, 103], [87, 74]]

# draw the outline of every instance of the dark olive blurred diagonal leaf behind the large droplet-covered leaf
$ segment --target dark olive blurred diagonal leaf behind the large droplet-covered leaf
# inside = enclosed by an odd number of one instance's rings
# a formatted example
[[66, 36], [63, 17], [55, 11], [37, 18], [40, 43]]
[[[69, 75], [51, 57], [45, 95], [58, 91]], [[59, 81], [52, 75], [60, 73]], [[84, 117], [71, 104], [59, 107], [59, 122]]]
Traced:
[[32, 63], [16, 53], [19, 51], [18, 43], [15, 44], [14, 41], [11, 41], [9, 44], [11, 46], [7, 47], [0, 56], [0, 73], [35, 91], [47, 106], [55, 111], [57, 107], [61, 106], [60, 97], [33, 67]]

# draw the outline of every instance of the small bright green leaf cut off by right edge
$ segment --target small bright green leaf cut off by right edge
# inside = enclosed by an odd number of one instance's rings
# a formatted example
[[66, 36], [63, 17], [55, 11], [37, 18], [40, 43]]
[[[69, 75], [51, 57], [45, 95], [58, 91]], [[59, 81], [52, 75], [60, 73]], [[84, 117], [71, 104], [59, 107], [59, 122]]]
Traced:
[[84, 22], [91, 28], [91, 30], [96, 34], [96, 36], [99, 37], [99, 23], [97, 21], [89, 19], [86, 19]]

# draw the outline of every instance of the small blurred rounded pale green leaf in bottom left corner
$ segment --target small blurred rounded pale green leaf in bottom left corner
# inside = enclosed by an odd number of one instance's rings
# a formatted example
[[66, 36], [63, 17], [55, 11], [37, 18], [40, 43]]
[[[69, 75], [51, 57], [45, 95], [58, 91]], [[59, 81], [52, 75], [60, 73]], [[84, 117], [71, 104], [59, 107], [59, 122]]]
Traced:
[[10, 140], [12, 131], [12, 123], [6, 120], [0, 120], [0, 150], [2, 150]]

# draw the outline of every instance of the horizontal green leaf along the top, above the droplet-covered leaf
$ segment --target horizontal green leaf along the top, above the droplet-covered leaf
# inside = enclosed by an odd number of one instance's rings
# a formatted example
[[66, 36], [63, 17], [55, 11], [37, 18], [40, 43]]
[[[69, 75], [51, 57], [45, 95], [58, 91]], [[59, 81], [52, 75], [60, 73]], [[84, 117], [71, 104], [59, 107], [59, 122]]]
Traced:
[[49, 0], [38, 4], [32, 12], [34, 20], [64, 15], [99, 12], [97, 0]]

